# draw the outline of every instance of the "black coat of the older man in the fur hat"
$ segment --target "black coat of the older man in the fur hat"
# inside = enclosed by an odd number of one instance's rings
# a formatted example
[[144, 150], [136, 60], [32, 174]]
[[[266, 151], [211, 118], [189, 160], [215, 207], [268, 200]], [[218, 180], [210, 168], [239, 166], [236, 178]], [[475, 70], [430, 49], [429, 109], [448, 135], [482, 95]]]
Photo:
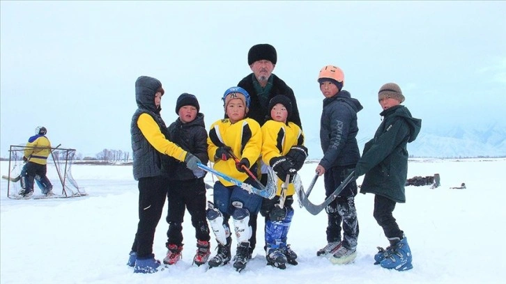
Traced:
[[276, 95], [286, 95], [286, 97], [289, 97], [292, 104], [292, 113], [289, 121], [302, 128], [297, 101], [295, 95], [293, 94], [293, 90], [275, 74], [271, 74], [270, 76], [273, 77], [273, 88], [270, 90], [267, 104], [265, 106], [261, 105], [258, 94], [256, 93], [256, 90], [253, 86], [253, 80], [256, 80], [254, 73], [251, 73], [244, 77], [237, 85], [247, 90], [247, 93], [249, 93], [251, 97], [250, 111], [247, 113], [247, 117], [253, 118], [257, 123], [259, 123], [260, 126], [262, 126], [263, 123], [266, 123], [266, 121], [270, 118], [270, 110], [268, 109], [268, 102], [270, 99]]

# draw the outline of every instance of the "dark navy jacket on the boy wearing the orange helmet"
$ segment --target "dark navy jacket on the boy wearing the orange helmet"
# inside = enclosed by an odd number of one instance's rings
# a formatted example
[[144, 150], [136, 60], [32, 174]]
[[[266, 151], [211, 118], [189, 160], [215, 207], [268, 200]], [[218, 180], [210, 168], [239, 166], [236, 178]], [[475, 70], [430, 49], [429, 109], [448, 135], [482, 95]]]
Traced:
[[355, 166], [360, 159], [357, 144], [357, 113], [363, 109], [346, 90], [323, 100], [320, 120], [320, 143], [323, 158], [320, 165], [328, 170], [334, 166]]

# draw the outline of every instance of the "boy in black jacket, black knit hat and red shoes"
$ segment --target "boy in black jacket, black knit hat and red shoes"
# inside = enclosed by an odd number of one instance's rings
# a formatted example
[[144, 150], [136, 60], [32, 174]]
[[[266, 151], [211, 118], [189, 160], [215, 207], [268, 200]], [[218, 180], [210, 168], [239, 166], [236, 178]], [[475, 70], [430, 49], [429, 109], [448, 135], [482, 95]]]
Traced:
[[[179, 145], [183, 150], [191, 152], [203, 164], [207, 164], [207, 131], [204, 114], [200, 113], [197, 97], [183, 93], [176, 102], [178, 118], [169, 125], [167, 139]], [[184, 163], [167, 157], [163, 159], [164, 175], [169, 180], [167, 191], [167, 256], [163, 262], [174, 265], [181, 259], [183, 251], [183, 219], [187, 209], [192, 216], [192, 226], [197, 238], [197, 254], [193, 262], [200, 266], [207, 262], [210, 255], [210, 235], [206, 220], [206, 172], [200, 168], [190, 170]]]

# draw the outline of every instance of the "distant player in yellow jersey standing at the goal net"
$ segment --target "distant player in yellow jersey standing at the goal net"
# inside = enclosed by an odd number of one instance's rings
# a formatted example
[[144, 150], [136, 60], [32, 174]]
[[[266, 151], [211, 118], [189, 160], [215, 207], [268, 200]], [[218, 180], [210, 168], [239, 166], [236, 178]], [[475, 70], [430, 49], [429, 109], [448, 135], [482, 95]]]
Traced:
[[22, 173], [21, 186], [19, 194], [22, 197], [30, 197], [33, 194], [33, 180], [36, 175], [43, 181], [44, 187], [41, 187], [45, 196], [52, 195], [53, 188], [51, 182], [46, 177], [47, 157], [51, 154], [51, 142], [45, 136], [46, 127], [37, 127], [35, 135], [31, 136], [26, 143], [23, 161], [26, 161], [26, 171]]

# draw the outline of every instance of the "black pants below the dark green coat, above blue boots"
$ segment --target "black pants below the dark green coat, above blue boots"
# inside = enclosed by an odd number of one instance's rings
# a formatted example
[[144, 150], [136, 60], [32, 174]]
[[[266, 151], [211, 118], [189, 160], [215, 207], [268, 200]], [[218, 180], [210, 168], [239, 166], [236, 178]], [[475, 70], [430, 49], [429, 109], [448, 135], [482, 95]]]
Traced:
[[388, 238], [399, 237], [399, 239], [402, 239], [404, 237], [404, 232], [399, 229], [399, 226], [392, 215], [394, 209], [394, 200], [377, 194], [374, 196], [373, 216], [374, 219], [376, 219], [376, 222], [378, 222], [378, 225], [383, 228], [385, 236]]

